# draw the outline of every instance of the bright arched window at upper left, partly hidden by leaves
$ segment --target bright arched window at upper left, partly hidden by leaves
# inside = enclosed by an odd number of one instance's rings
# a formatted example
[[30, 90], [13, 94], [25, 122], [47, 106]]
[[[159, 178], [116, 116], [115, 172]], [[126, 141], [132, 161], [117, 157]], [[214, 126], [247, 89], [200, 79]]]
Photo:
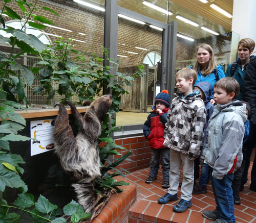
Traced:
[[[10, 21], [10, 22], [6, 22], [6, 26], [12, 27], [14, 29], [22, 29], [23, 26], [23, 22], [20, 21]], [[29, 24], [26, 24], [25, 29], [23, 30], [25, 33], [27, 34], [33, 34], [34, 36], [36, 36], [42, 43], [44, 44], [51, 44], [50, 39], [48, 38], [48, 36], [40, 31], [37, 30], [33, 27], [30, 27]], [[6, 33], [4, 30], [0, 30], [0, 35], [9, 38], [10, 36], [12, 36], [12, 34], [10, 33]]]

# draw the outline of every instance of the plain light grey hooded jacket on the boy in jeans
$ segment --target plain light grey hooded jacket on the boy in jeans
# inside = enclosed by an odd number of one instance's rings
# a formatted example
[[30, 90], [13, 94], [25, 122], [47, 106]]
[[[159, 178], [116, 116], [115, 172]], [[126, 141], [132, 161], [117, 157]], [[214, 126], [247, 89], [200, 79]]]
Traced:
[[205, 162], [214, 170], [212, 176], [222, 179], [232, 174], [242, 163], [246, 106], [238, 100], [216, 105], [208, 127], [208, 150]]

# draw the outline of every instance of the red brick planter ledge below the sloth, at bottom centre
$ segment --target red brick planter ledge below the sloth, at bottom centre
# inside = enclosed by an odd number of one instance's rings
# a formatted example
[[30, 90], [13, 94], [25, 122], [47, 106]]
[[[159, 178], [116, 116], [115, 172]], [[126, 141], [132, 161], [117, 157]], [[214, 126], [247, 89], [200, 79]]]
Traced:
[[[115, 178], [117, 181], [127, 180], [122, 177]], [[130, 182], [129, 182], [130, 183]], [[113, 193], [101, 213], [92, 220], [92, 223], [126, 223], [128, 222], [129, 209], [136, 201], [136, 186], [131, 184], [121, 186], [121, 193]]]

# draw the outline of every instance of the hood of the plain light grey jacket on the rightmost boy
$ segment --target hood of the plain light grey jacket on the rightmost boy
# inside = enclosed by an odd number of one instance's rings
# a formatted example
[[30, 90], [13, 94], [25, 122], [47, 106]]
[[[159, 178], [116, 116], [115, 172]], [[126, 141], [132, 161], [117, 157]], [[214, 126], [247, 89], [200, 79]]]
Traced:
[[[216, 105], [215, 106], [216, 109], [218, 109], [219, 111], [232, 111], [232, 112], [236, 112], [237, 114], [241, 115], [241, 117], [243, 118], [243, 121], [245, 122], [247, 120], [247, 115], [246, 115], [246, 105], [243, 104], [242, 102], [240, 102], [239, 100], [234, 100], [233, 102], [230, 102], [228, 104], [225, 105]], [[215, 114], [213, 114], [215, 115]]]

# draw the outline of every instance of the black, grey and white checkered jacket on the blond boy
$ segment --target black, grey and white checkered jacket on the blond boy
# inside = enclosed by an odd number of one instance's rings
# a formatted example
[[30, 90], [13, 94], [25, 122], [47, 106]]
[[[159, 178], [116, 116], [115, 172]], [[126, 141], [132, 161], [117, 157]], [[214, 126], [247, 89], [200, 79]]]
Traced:
[[188, 159], [199, 157], [202, 150], [203, 129], [206, 110], [199, 91], [194, 90], [183, 98], [176, 92], [170, 105], [165, 124], [163, 145], [188, 155]]

